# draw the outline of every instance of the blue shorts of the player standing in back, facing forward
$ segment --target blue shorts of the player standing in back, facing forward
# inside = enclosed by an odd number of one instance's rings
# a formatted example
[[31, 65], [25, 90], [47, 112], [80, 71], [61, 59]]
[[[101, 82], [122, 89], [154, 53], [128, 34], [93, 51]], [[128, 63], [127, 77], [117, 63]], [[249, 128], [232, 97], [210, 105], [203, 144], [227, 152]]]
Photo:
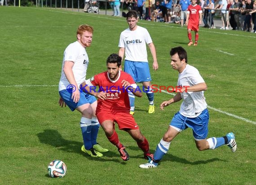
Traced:
[[151, 81], [148, 62], [124, 61], [124, 72], [130, 74], [135, 82]]

